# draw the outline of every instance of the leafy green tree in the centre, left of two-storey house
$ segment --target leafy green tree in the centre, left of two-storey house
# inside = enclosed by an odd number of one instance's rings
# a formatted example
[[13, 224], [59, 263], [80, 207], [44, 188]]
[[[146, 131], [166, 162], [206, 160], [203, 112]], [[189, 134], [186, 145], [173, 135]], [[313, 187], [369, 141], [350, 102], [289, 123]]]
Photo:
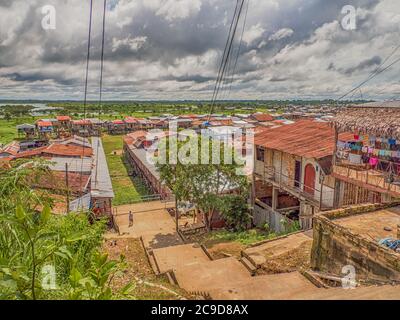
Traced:
[[[217, 211], [225, 212], [228, 218], [235, 216], [234, 213], [230, 215], [226, 209], [224, 210], [228, 200], [221, 201], [222, 199], [234, 193], [237, 198], [229, 197], [227, 199], [235, 199], [236, 205], [239, 199], [246, 204], [248, 180], [246, 176], [238, 174], [238, 170], [243, 166], [235, 162], [233, 157], [235, 151], [232, 148], [221, 144], [219, 150], [216, 151], [220, 153], [219, 163], [201, 164], [202, 153], [204, 156], [204, 152], [208, 152], [209, 159], [213, 157], [211, 141], [202, 143], [201, 139], [198, 139], [197, 144], [192, 148], [188, 148], [187, 143], [189, 142], [186, 140], [178, 143], [178, 154], [185, 154], [185, 151], [189, 150], [186, 154], [188, 157], [191, 152], [195, 154], [192, 161], [187, 161], [185, 157], [177, 157], [176, 164], [171, 164], [169, 158], [163, 159], [166, 164], [158, 165], [160, 178], [175, 194], [177, 201], [190, 201], [201, 210], [206, 227], [210, 230], [211, 220]], [[163, 146], [166, 146], [166, 152], [162, 150], [161, 153], [169, 154], [168, 139]], [[214, 150], [214, 155], [216, 152]], [[225, 163], [225, 152], [231, 155], [227, 159], [232, 159], [232, 163], [229, 161]], [[239, 214], [240, 217], [237, 221], [242, 225], [243, 216], [241, 212]]]

